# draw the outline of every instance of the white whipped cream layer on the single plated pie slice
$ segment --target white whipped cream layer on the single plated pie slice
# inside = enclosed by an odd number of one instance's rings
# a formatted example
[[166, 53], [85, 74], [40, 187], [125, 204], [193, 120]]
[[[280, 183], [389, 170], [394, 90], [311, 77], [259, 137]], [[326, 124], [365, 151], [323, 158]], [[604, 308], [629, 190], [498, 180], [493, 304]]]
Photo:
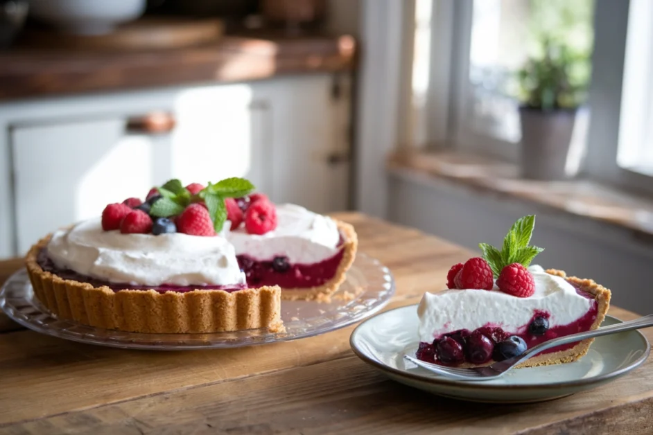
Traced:
[[531, 266], [535, 292], [520, 298], [494, 290], [444, 290], [426, 293], [419, 303], [419, 339], [430, 342], [446, 332], [475, 330], [491, 323], [507, 332], [517, 332], [533, 317], [534, 310], [550, 314], [549, 326], [568, 325], [590, 310], [592, 299], [578, 294], [559, 276]]

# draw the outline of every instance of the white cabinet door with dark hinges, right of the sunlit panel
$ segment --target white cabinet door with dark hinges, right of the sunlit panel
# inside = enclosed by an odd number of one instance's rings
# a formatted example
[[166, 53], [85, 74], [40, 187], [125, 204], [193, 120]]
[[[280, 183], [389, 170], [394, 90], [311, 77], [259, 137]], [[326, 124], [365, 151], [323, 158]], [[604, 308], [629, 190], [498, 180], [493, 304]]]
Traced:
[[254, 91], [271, 106], [266, 152], [275, 168], [269, 191], [276, 202], [318, 213], [349, 204], [349, 80], [334, 80], [331, 75], [275, 79]]

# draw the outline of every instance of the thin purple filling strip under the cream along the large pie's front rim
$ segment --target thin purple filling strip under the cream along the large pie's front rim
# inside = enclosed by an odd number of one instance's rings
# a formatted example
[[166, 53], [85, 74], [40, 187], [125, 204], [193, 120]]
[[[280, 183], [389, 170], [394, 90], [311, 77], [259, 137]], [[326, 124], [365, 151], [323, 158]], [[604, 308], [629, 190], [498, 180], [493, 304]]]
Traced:
[[131, 284], [121, 284], [121, 283], [110, 283], [108, 281], [103, 281], [96, 278], [91, 278], [90, 276], [84, 276], [78, 274], [70, 269], [60, 269], [55, 266], [55, 264], [48, 258], [46, 251], [43, 249], [40, 251], [37, 257], [37, 263], [45, 272], [50, 272], [55, 274], [62, 279], [69, 279], [73, 281], [79, 281], [80, 283], [89, 283], [94, 287], [101, 287], [103, 285], [109, 287], [114, 292], [119, 292], [121, 290], [155, 290], [159, 293], [165, 292], [177, 292], [177, 293], [186, 293], [192, 292], [193, 290], [224, 290], [225, 292], [237, 292], [238, 290], [243, 290], [247, 288], [247, 285], [244, 284], [232, 284], [232, 285], [131, 285]]

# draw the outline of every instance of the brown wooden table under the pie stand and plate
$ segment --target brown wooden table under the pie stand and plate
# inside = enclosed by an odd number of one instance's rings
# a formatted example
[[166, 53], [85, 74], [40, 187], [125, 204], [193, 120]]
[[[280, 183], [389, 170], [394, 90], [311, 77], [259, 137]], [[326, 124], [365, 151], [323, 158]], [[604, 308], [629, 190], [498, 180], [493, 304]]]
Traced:
[[[414, 229], [338, 217], [356, 226], [361, 251], [394, 272], [388, 308], [441, 289], [447, 269], [470, 255]], [[20, 265], [0, 263], [0, 280]], [[470, 404], [384, 378], [351, 352], [352, 329], [251, 348], [147, 352], [46, 337], [0, 317], [0, 434], [653, 433], [651, 362], [552, 402]]]

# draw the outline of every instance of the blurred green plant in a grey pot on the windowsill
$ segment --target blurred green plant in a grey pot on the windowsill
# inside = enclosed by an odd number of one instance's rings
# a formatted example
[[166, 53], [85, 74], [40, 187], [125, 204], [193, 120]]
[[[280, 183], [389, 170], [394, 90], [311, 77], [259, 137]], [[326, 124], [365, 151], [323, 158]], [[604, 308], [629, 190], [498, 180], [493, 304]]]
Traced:
[[577, 109], [589, 83], [589, 52], [543, 37], [517, 73], [523, 177], [555, 180], [565, 172]]

